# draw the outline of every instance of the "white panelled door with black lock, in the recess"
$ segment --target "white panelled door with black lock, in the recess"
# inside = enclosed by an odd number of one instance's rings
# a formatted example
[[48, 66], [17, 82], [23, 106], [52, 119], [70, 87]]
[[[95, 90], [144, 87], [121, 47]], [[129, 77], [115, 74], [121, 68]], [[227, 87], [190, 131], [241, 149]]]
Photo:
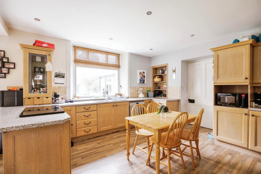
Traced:
[[198, 115], [204, 108], [201, 127], [213, 129], [213, 59], [189, 63], [189, 113]]

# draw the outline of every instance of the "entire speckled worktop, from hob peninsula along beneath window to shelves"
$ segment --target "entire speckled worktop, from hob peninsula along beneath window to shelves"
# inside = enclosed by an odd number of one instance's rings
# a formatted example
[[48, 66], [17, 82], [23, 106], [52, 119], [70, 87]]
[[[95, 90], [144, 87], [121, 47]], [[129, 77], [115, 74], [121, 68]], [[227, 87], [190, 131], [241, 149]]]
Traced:
[[[147, 98], [128, 98], [126, 100], [120, 100], [120, 101], [110, 100], [110, 101], [97, 102], [94, 100], [95, 99], [88, 100], [88, 101], [77, 101], [76, 99], [75, 102], [73, 103], [46, 104], [46, 105], [38, 105], [38, 106], [59, 105], [61, 107], [66, 107], [66, 106], [118, 103], [118, 102], [127, 102], [127, 101], [132, 102], [132, 101], [143, 101], [143, 100], [178, 101], [180, 99], [147, 97]], [[36, 105], [32, 105], [32, 106], [36, 106]], [[58, 113], [58, 114], [32, 116], [32, 117], [19, 117], [20, 113], [25, 109], [25, 107], [30, 107], [30, 106], [0, 107], [0, 132], [35, 128], [41, 126], [48, 126], [52, 124], [61, 124], [70, 121], [70, 116], [67, 113]]]

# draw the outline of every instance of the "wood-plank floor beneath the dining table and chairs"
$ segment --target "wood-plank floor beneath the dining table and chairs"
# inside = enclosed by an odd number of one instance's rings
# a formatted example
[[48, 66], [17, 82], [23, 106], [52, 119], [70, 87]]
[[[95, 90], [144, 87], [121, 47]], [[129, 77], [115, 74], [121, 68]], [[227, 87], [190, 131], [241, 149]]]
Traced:
[[[189, 129], [191, 125], [186, 125]], [[261, 173], [261, 158], [253, 157], [223, 146], [216, 145], [208, 137], [211, 129], [200, 128], [199, 148], [201, 159], [195, 157], [196, 169], [192, 169], [191, 158], [183, 156], [186, 169], [181, 160], [171, 155], [171, 173]], [[135, 141], [135, 129], [131, 129], [131, 149]], [[186, 141], [184, 141], [186, 143]], [[139, 146], [146, 146], [146, 140], [138, 139]], [[142, 145], [141, 145], [142, 144]], [[155, 155], [155, 147], [152, 155]], [[185, 153], [190, 153], [189, 148]], [[194, 150], [194, 154], [195, 154]], [[72, 173], [155, 173], [155, 161], [146, 166], [147, 155], [135, 149], [130, 160], [126, 157], [126, 131], [74, 143], [72, 147]], [[0, 155], [0, 174], [3, 173], [3, 161]], [[167, 163], [167, 159], [163, 160]], [[168, 168], [160, 165], [161, 173], [168, 173]]]

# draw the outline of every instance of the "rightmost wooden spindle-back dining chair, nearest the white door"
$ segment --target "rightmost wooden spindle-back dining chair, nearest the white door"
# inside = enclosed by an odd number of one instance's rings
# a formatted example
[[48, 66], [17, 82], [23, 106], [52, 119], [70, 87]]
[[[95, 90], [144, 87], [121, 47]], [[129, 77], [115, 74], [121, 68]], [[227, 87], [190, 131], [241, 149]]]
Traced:
[[[201, 123], [201, 119], [202, 119], [202, 115], [203, 115], [203, 112], [204, 112], [204, 109], [201, 109], [199, 111], [199, 114], [198, 116], [196, 117], [192, 127], [190, 130], [187, 130], [187, 129], [183, 129], [183, 133], [181, 135], [181, 139], [182, 140], [186, 140], [186, 141], [189, 141], [189, 145], [186, 145], [186, 144], [181, 144], [183, 146], [185, 146], [183, 149], [182, 149], [182, 154], [187, 156], [187, 157], [191, 157], [192, 159], [192, 167], [193, 169], [195, 169], [195, 162], [194, 162], [194, 154], [193, 154], [193, 149], [196, 149], [196, 153], [199, 157], [199, 159], [201, 159], [201, 156], [200, 156], [200, 152], [199, 152], [199, 147], [198, 147], [198, 140], [199, 140], [199, 128], [200, 128], [200, 123]], [[193, 147], [192, 146], [192, 141], [195, 141], [195, 145], [196, 147]], [[185, 151], [185, 149], [187, 147], [190, 147], [190, 153], [191, 155], [189, 154], [185, 154], [183, 153]], [[173, 153], [178, 153], [177, 151], [175, 150], [172, 150], [171, 152]]]

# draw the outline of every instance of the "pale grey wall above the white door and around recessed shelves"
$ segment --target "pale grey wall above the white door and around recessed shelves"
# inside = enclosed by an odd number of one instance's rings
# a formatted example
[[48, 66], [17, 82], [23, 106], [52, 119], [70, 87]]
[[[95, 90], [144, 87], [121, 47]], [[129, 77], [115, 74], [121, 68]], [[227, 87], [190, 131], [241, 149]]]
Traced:
[[[168, 76], [168, 81], [169, 84], [168, 86], [170, 87], [175, 87], [175, 86], [180, 86], [181, 87], [181, 106], [180, 109], [181, 111], [188, 110], [188, 105], [185, 104], [187, 103], [187, 96], [188, 96], [188, 89], [187, 85], [185, 85], [185, 82], [182, 80], [182, 78], [187, 81], [186, 77], [187, 76], [187, 65], [184, 63], [181, 63], [182, 60], [186, 61], [192, 61], [195, 59], [199, 59], [200, 57], [202, 59], [206, 58], [211, 58], [213, 55], [213, 52], [210, 50], [210, 48], [213, 47], [218, 47], [222, 45], [228, 45], [232, 44], [234, 39], [239, 39], [241, 35], [256, 35], [258, 36], [261, 33], [261, 28], [257, 30], [250, 30], [250, 31], [245, 31], [241, 33], [237, 33], [228, 37], [224, 37], [221, 39], [209, 41], [203, 44], [198, 44], [190, 47], [186, 47], [183, 49], [179, 50], [174, 50], [168, 53], [164, 53], [162, 55], [154, 56], [151, 57], [151, 66], [154, 65], [159, 65], [159, 64], [164, 64], [168, 63], [169, 64], [169, 76]], [[200, 36], [194, 36], [194, 37], [200, 37]], [[176, 67], [176, 79], [172, 79], [172, 67]], [[185, 75], [184, 75], [184, 74]], [[183, 76], [184, 75], [184, 76]], [[181, 86], [181, 83], [184, 82], [184, 86]], [[185, 103], [184, 103], [185, 102]]]

